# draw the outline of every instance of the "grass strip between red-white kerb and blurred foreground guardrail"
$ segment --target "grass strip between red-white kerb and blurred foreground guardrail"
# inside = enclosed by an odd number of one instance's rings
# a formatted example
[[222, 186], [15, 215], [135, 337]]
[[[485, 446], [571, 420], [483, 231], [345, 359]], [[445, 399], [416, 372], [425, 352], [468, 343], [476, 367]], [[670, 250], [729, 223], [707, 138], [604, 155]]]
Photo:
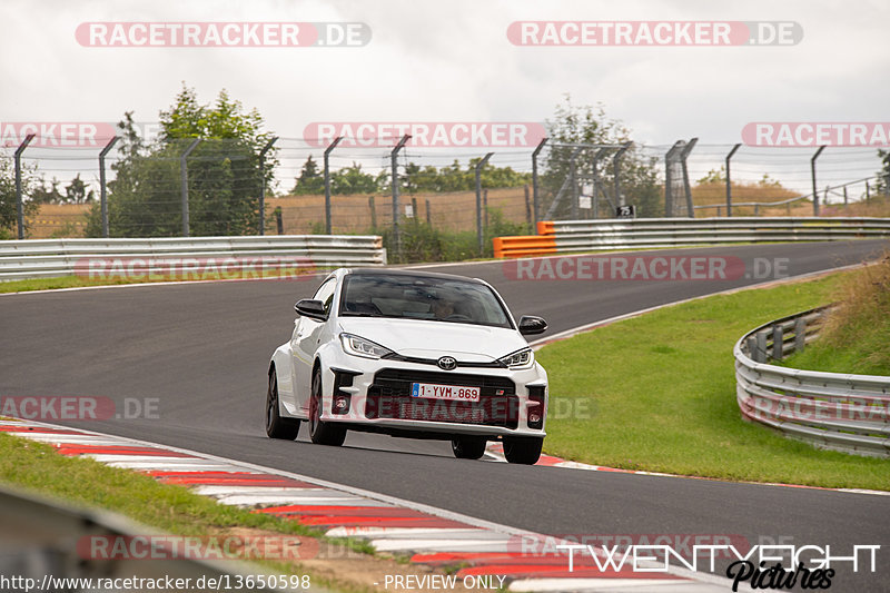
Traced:
[[[49, 445], [3, 433], [0, 433], [0, 483], [67, 504], [112, 511], [172, 535], [222, 535], [228, 530], [251, 528], [264, 533], [314, 536], [365, 554], [374, 551], [363, 541], [326, 538], [322, 531], [295, 521], [221, 505], [184, 486], [161, 484], [150, 476], [89, 458], [66, 457]], [[259, 563], [281, 572], [307, 573], [298, 564], [284, 561]], [[312, 582], [340, 591], [366, 591], [352, 583], [316, 575]]]

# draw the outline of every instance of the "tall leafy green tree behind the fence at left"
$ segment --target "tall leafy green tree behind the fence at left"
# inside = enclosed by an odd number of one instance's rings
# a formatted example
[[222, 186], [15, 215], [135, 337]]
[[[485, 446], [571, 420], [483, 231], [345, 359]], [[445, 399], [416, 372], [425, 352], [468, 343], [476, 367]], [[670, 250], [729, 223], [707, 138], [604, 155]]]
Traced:
[[[201, 103], [184, 85], [174, 105], [162, 110], [159, 138], [148, 145], [135, 129], [132, 112], [119, 125], [123, 142], [109, 182], [109, 227], [113, 236], [176, 236], [181, 233], [180, 157], [195, 139], [187, 159], [189, 234], [250, 235], [258, 228], [263, 177], [271, 184], [277, 164], [273, 151], [260, 171], [259, 151], [271, 138], [263, 131], [256, 109], [219, 92], [212, 105]], [[88, 235], [100, 231], [93, 208]]]

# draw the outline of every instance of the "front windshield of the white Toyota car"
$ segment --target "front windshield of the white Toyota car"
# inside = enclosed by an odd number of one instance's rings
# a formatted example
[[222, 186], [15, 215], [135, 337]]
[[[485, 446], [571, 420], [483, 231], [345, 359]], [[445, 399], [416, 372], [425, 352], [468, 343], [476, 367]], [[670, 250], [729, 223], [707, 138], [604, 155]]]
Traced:
[[343, 287], [340, 315], [513, 327], [490, 287], [431, 276], [350, 274]]

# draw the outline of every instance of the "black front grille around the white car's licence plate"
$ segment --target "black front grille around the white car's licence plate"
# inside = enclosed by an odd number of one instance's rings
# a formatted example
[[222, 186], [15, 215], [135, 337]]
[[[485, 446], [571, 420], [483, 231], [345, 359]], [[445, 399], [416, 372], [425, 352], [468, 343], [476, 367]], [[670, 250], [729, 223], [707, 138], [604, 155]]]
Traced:
[[[478, 387], [478, 402], [412, 397], [412, 383]], [[365, 401], [368, 418], [453, 422], [516, 428], [520, 401], [506, 377], [386, 368], [374, 376]]]

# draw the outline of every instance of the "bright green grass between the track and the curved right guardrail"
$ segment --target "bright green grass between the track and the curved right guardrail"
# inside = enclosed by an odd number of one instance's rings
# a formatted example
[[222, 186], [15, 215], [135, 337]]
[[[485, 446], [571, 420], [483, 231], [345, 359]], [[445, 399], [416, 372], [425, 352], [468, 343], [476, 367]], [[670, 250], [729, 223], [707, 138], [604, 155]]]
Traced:
[[735, 342], [830, 302], [842, 276], [666, 307], [542, 348], [546, 452], [629, 470], [890, 490], [890, 459], [787, 439], [743, 422], [735, 402]]

